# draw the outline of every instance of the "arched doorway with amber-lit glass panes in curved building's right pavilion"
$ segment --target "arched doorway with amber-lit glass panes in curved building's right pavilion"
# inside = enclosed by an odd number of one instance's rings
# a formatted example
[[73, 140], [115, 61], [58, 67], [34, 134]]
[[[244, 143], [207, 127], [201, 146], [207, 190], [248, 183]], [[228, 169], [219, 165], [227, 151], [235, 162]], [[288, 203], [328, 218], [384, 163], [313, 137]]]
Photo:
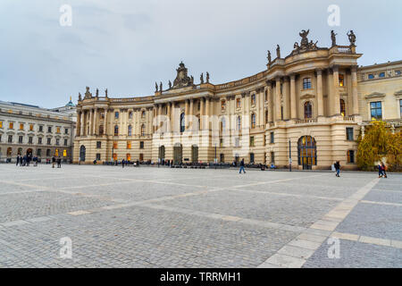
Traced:
[[303, 136], [297, 143], [298, 164], [303, 170], [312, 170], [317, 165], [317, 145], [311, 136]]

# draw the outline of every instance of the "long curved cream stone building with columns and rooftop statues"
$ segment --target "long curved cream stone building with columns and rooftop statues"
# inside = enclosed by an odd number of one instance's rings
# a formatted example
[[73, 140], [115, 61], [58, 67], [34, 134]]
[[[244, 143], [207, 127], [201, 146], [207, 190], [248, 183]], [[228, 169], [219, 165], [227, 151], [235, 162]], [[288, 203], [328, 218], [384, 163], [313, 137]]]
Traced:
[[169, 87], [149, 97], [93, 96], [77, 105], [73, 161], [122, 159], [179, 163], [292, 165], [328, 169], [334, 161], [356, 168], [356, 139], [375, 118], [393, 130], [401, 123], [402, 62], [359, 67], [356, 37], [319, 47], [300, 33], [290, 55], [268, 52], [267, 69], [242, 80], [195, 83], [180, 63]]

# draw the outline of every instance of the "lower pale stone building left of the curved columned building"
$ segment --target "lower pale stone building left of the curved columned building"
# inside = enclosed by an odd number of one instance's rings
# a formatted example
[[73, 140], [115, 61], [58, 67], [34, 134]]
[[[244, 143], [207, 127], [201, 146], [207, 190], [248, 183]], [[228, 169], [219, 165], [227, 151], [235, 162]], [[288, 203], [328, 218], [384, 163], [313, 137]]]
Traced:
[[38, 156], [42, 161], [61, 156], [71, 162], [75, 105], [70, 100], [60, 109], [0, 101], [0, 162], [15, 162], [18, 154]]

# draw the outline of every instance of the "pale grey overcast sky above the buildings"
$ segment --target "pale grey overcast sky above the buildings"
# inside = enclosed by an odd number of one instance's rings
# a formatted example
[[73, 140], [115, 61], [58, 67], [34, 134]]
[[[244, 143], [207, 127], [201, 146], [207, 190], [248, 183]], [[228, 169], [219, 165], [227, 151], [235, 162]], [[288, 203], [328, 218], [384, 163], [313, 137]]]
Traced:
[[[63, 4], [71, 27], [60, 25]], [[328, 25], [331, 4], [339, 27]], [[331, 29], [348, 45], [353, 29], [359, 64], [398, 61], [401, 11], [400, 0], [1, 0], [0, 100], [55, 107], [86, 86], [148, 96], [180, 61], [196, 83], [205, 71], [215, 84], [238, 80], [264, 71], [277, 44], [288, 55], [301, 29], [318, 46], [331, 46]]]

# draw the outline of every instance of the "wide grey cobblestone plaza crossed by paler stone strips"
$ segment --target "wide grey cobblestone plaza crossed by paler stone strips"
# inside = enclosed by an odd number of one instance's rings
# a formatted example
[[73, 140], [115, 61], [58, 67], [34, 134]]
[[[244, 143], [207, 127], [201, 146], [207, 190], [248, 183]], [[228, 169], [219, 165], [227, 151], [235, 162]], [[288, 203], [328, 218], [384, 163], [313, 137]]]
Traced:
[[400, 174], [0, 164], [0, 186], [0, 267], [402, 266]]

